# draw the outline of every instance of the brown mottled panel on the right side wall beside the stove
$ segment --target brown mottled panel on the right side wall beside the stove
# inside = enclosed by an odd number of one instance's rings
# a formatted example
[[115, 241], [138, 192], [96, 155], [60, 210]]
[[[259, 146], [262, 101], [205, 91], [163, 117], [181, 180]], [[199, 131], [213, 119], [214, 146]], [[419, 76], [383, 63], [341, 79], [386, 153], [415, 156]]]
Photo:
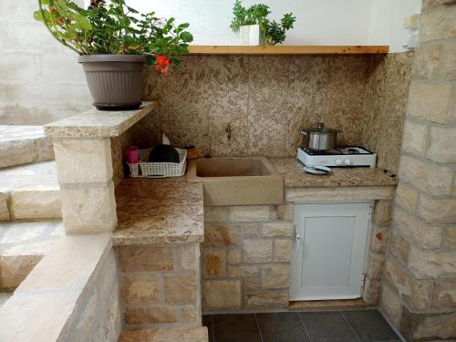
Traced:
[[398, 173], [409, 98], [413, 52], [371, 57], [363, 100], [364, 146], [378, 154], [378, 167]]

